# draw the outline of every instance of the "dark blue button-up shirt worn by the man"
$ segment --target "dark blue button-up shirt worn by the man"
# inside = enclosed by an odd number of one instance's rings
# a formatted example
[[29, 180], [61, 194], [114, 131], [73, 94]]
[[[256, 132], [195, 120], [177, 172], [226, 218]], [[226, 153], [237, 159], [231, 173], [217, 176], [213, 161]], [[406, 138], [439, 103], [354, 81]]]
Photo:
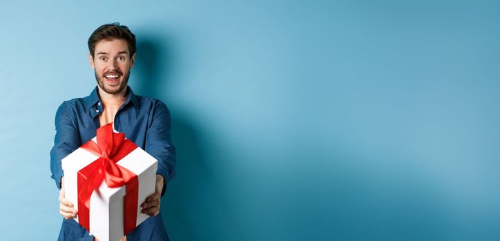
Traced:
[[[97, 87], [89, 96], [64, 101], [57, 109], [50, 171], [59, 189], [64, 176], [61, 159], [95, 137], [101, 126], [99, 114], [103, 110]], [[166, 185], [175, 176], [175, 147], [171, 141], [169, 109], [162, 101], [137, 96], [127, 87], [127, 98], [115, 114], [114, 127], [158, 160], [157, 174], [163, 176], [165, 183], [163, 196]], [[59, 240], [93, 240], [93, 236], [72, 219], [63, 221]], [[127, 240], [168, 240], [161, 215], [142, 222], [127, 235]]]

